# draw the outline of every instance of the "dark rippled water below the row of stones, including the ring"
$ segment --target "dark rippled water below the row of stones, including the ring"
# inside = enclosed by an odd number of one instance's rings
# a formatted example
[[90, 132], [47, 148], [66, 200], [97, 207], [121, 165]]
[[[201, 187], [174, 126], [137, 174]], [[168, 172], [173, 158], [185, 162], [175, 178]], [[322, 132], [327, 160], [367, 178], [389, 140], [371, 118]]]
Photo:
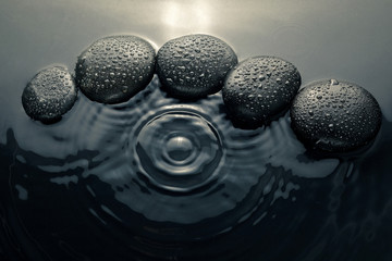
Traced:
[[126, 103], [82, 96], [60, 125], [20, 121], [1, 145], [2, 198], [17, 215], [3, 224], [23, 256], [315, 260], [334, 249], [341, 260], [383, 238], [389, 167], [367, 170], [390, 154], [385, 135], [362, 158], [317, 159], [289, 115], [237, 129], [220, 95], [181, 103], [158, 78]]

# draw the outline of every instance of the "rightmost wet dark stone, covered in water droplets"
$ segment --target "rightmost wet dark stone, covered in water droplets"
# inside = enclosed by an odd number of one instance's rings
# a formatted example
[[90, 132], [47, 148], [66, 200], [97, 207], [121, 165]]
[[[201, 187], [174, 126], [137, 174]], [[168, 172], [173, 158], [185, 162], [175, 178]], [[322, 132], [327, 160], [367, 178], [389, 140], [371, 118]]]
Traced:
[[363, 87], [336, 79], [310, 83], [295, 97], [292, 127], [313, 149], [346, 152], [375, 139], [382, 114], [377, 100]]

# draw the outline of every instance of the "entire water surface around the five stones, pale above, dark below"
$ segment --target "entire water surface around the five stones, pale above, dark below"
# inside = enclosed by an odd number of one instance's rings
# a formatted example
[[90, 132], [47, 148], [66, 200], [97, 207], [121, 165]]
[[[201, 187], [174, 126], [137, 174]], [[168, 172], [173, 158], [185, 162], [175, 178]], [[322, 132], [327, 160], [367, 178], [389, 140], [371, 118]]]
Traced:
[[[93, 1], [91, 1], [93, 2]], [[0, 3], [0, 260], [392, 260], [392, 2], [5, 1]], [[159, 48], [206, 33], [238, 59], [273, 54], [303, 83], [357, 83], [383, 123], [365, 152], [320, 157], [289, 114], [234, 128], [220, 94], [167, 97], [157, 77], [128, 102], [79, 94], [62, 121], [32, 121], [23, 88], [73, 70], [94, 40]]]

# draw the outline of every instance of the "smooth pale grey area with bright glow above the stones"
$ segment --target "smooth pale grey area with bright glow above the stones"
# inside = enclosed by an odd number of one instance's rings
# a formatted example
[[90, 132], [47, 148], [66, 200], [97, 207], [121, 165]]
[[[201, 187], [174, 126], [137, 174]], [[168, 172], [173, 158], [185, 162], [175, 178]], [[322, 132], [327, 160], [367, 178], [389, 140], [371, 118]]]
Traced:
[[0, 135], [25, 116], [21, 94], [41, 67], [63, 63], [107, 35], [135, 34], [159, 48], [186, 34], [226, 40], [240, 60], [274, 54], [304, 84], [340, 78], [367, 88], [392, 120], [390, 0], [3, 0], [0, 3]]

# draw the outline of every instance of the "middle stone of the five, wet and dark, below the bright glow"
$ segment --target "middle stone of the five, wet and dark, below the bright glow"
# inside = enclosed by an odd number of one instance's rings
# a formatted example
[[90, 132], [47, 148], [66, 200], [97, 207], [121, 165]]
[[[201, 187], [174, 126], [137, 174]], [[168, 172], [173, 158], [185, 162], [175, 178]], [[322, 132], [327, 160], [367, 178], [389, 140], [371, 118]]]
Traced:
[[158, 51], [157, 74], [163, 89], [180, 99], [198, 99], [219, 91], [237, 63], [233, 49], [213, 36], [187, 35]]

